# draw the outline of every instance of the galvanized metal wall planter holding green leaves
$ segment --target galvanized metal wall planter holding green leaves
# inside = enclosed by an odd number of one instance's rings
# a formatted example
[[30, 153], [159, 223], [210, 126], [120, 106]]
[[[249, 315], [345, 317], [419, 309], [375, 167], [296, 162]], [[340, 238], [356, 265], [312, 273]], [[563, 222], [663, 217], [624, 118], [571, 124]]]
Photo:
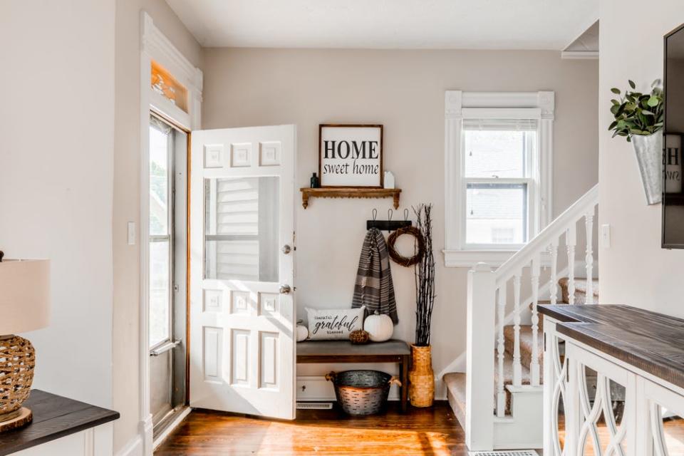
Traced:
[[641, 173], [646, 204], [658, 204], [663, 199], [663, 134], [632, 135], [631, 142]]

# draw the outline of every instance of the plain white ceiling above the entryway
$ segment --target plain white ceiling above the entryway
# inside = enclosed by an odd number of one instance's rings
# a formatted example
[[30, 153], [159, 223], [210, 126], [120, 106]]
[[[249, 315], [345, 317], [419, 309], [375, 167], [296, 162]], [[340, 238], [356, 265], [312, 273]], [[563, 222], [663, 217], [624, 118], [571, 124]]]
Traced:
[[167, 0], [207, 47], [562, 50], [598, 0]]

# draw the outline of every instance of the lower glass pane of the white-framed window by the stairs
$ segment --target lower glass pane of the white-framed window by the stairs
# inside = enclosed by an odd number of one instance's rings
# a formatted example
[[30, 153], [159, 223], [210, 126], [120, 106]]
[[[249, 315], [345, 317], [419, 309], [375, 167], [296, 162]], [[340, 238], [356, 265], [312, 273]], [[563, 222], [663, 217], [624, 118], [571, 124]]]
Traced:
[[527, 184], [467, 185], [467, 244], [527, 242]]

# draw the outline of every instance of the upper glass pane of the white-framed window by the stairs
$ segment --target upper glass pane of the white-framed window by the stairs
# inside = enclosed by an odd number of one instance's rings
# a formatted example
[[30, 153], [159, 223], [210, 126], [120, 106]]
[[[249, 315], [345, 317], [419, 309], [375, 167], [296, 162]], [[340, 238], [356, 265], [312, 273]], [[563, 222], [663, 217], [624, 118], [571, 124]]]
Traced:
[[528, 177], [536, 132], [464, 130], [465, 177]]

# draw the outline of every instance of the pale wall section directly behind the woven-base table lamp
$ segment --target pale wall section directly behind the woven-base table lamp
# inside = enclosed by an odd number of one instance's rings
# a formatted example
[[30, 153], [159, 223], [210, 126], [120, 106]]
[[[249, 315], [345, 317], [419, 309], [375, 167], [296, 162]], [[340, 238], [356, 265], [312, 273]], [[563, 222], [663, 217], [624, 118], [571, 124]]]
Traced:
[[51, 260], [33, 386], [111, 407], [114, 1], [2, 1], [0, 41], [0, 249]]

